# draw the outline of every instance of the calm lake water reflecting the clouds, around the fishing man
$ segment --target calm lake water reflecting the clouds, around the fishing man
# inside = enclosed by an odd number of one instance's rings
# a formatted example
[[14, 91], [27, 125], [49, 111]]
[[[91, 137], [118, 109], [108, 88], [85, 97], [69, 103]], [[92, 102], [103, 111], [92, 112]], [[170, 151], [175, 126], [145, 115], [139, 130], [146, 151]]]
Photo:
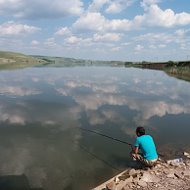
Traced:
[[[134, 142], [143, 125], [158, 150], [189, 150], [190, 83], [162, 71], [114, 67], [0, 72], [0, 175], [33, 188], [89, 190], [132, 166], [130, 148], [80, 127]], [[19, 182], [21, 183], [21, 182]]]

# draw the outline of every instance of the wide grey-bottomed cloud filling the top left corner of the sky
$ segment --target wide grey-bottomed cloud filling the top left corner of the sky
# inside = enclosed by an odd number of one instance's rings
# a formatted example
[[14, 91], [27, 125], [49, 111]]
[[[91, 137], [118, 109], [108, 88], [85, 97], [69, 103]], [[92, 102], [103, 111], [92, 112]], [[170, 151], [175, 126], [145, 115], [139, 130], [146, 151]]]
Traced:
[[0, 0], [0, 15], [17, 18], [59, 18], [80, 15], [83, 12], [81, 0]]

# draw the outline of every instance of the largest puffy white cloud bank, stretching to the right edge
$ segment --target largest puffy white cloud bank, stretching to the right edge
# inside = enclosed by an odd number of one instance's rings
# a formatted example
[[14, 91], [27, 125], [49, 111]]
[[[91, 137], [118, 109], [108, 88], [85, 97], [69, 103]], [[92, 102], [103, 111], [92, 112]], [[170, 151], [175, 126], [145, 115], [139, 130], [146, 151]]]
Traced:
[[190, 24], [189, 13], [177, 13], [171, 9], [162, 10], [158, 5], [148, 7], [143, 15], [137, 15], [132, 20], [112, 19], [109, 20], [100, 12], [87, 12], [73, 24], [78, 30], [91, 31], [130, 31], [143, 27], [165, 27], [170, 28], [178, 25]]

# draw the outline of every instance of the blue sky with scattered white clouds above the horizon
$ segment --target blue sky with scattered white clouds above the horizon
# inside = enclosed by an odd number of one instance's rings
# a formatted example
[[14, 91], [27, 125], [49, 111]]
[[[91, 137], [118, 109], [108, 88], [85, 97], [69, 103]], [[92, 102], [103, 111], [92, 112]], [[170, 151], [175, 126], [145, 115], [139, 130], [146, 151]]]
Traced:
[[92, 60], [190, 60], [190, 1], [0, 0], [0, 50]]

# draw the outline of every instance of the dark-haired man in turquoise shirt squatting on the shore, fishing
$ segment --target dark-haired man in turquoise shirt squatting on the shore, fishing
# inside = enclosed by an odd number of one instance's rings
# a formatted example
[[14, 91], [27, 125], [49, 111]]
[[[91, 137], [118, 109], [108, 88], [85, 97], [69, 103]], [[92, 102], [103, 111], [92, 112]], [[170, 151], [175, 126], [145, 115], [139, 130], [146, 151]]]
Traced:
[[[158, 154], [153, 138], [145, 134], [144, 127], [137, 127], [136, 135], [136, 142], [132, 150], [133, 160], [137, 160], [148, 167], [156, 165]], [[142, 155], [139, 150], [141, 150]]]

